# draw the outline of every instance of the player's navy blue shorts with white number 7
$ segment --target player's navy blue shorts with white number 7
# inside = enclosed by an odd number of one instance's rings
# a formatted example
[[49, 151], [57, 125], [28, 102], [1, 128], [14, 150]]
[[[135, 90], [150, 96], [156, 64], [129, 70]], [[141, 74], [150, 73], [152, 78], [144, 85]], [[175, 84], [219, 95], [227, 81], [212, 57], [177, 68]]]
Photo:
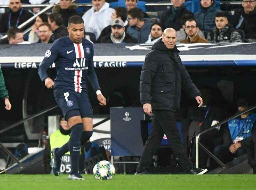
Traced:
[[[78, 115], [81, 118], [93, 117], [92, 106], [87, 93], [66, 90], [62, 91], [62, 93], [55, 92], [54, 97], [66, 120]], [[72, 111], [72, 114], [70, 111]], [[68, 112], [69, 117], [66, 118]]]

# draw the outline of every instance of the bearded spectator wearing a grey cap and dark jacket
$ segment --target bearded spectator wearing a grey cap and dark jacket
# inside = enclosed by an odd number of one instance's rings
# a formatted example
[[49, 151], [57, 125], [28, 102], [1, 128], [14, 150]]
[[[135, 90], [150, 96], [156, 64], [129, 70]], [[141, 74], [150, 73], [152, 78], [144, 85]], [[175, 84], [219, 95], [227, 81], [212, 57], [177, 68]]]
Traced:
[[111, 25], [111, 34], [101, 39], [101, 43], [137, 43], [137, 39], [133, 38], [129, 34], [125, 34], [124, 21], [121, 19], [115, 19]]

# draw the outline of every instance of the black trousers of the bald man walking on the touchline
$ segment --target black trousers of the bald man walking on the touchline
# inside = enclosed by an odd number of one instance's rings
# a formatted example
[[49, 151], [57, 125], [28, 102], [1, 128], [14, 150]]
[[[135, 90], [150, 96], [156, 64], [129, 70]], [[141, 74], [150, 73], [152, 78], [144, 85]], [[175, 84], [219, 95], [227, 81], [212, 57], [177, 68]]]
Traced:
[[175, 113], [167, 110], [153, 110], [151, 131], [143, 148], [142, 156], [136, 169], [137, 172], [144, 172], [149, 168], [152, 157], [158, 149], [164, 134], [167, 136], [172, 151], [184, 171], [193, 167], [181, 142]]

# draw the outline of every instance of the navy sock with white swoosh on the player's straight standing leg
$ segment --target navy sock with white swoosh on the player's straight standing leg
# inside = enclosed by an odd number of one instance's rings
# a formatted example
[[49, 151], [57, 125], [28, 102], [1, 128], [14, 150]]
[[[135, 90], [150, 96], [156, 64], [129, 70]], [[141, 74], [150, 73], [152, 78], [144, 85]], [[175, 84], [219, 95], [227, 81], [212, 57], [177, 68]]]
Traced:
[[83, 124], [78, 123], [71, 128], [71, 135], [68, 147], [71, 157], [71, 174], [78, 173], [78, 164], [80, 157], [80, 139], [83, 132]]

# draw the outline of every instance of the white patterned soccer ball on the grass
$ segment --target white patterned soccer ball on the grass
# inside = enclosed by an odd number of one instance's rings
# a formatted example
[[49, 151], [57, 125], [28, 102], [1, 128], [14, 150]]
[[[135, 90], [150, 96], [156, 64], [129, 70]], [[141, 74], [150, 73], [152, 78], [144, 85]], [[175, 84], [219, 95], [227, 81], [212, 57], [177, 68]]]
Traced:
[[98, 180], [112, 179], [115, 172], [115, 167], [107, 160], [102, 160], [93, 167], [93, 174]]

